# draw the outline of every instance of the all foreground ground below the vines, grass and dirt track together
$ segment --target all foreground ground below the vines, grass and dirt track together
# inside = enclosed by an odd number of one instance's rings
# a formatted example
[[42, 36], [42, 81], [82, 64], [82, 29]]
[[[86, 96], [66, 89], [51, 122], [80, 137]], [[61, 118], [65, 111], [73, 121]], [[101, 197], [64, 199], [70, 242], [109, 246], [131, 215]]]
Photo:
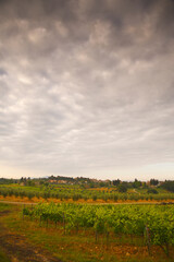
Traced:
[[[63, 233], [53, 224], [40, 225], [37, 221], [24, 218], [22, 205], [0, 204], [0, 261], [62, 261], [62, 262], [173, 262], [153, 246], [151, 255], [141, 237], [110, 237], [109, 245], [104, 236], [96, 242], [94, 233], [82, 230]], [[2, 250], [2, 251], [1, 251]], [[7, 255], [10, 258], [8, 260]], [[15, 259], [15, 260], [14, 260]]]

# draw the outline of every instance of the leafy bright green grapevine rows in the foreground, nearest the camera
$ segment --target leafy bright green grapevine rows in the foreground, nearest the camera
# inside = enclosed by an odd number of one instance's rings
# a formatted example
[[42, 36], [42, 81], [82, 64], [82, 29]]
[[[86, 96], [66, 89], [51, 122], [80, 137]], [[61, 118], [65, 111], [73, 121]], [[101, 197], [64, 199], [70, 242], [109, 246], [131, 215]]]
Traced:
[[150, 254], [152, 246], [160, 246], [169, 255], [174, 245], [173, 205], [88, 205], [44, 204], [23, 209], [23, 219], [36, 219], [40, 226], [49, 225], [62, 234], [94, 235], [96, 242], [105, 236], [105, 245], [117, 236], [141, 237]]

